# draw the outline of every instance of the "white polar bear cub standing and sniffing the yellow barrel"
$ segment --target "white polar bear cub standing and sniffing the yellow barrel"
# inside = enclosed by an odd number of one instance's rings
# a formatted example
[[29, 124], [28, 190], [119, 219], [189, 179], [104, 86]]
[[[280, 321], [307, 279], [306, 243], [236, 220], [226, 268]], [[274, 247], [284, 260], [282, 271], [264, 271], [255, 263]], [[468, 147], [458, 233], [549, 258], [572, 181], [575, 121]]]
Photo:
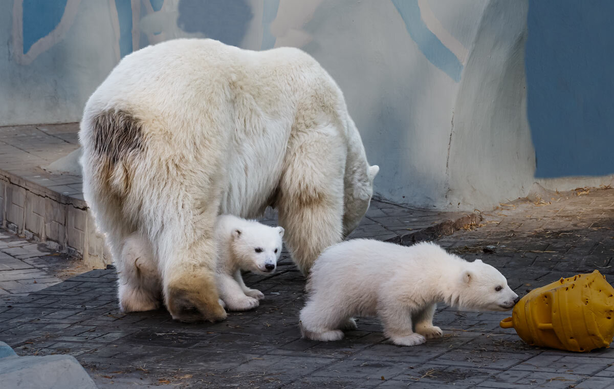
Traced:
[[330, 246], [316, 260], [300, 313], [303, 337], [339, 340], [356, 329], [352, 316], [379, 316], [396, 345], [442, 336], [433, 326], [437, 302], [465, 310], [511, 309], [518, 295], [479, 259], [467, 262], [434, 243], [406, 247], [369, 239]]

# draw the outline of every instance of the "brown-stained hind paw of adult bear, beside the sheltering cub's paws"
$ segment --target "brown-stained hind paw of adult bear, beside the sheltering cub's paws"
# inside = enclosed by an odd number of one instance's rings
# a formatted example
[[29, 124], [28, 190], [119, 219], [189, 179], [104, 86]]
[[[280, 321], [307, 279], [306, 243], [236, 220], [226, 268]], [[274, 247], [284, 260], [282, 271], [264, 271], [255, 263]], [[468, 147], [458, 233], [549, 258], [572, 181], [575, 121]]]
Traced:
[[219, 321], [226, 318], [226, 311], [220, 305], [217, 292], [190, 291], [184, 288], [168, 288], [166, 308], [174, 320], [193, 323], [196, 321]]

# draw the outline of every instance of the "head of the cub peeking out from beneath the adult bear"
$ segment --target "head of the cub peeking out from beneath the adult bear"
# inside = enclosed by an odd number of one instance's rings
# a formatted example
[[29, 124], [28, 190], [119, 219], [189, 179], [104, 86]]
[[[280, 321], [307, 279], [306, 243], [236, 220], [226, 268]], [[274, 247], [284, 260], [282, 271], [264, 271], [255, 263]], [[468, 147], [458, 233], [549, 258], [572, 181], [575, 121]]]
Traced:
[[241, 262], [241, 269], [260, 274], [271, 274], [275, 271], [283, 245], [282, 227], [256, 224], [246, 229], [235, 229], [232, 235], [233, 250], [235, 257]]

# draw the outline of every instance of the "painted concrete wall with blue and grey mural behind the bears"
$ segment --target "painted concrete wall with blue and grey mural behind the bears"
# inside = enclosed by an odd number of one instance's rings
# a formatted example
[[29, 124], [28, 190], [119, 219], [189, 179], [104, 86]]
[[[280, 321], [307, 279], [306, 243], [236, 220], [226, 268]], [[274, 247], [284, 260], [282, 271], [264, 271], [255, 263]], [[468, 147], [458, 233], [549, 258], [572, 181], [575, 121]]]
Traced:
[[194, 36], [253, 50], [290, 45], [340, 84], [368, 158], [381, 167], [378, 194], [485, 209], [526, 195], [534, 181], [559, 190], [612, 183], [606, 69], [614, 50], [594, 41], [611, 45], [600, 8], [608, 4], [5, 1], [0, 71], [10, 77], [0, 77], [0, 124], [79, 120], [119, 58], [150, 43]]

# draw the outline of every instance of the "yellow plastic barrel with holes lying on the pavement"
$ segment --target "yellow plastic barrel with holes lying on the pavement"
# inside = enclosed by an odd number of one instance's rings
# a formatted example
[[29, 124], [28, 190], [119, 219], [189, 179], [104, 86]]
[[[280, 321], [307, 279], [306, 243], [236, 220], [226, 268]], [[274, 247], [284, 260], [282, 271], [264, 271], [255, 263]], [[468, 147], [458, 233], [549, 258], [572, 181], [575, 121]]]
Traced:
[[515, 305], [502, 328], [530, 345], [589, 352], [614, 338], [614, 288], [595, 270], [537, 288]]

